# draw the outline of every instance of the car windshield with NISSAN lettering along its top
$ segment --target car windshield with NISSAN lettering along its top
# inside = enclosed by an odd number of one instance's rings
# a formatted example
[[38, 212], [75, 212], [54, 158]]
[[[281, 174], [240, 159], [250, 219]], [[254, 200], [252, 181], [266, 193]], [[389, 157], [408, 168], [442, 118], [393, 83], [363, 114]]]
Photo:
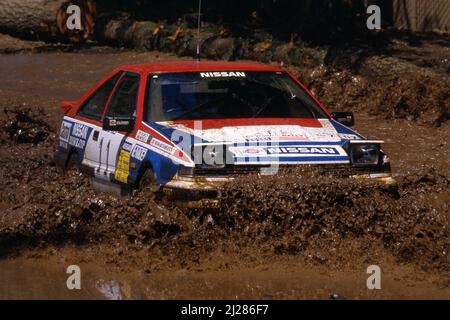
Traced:
[[284, 72], [186, 72], [150, 75], [145, 120], [328, 118]]

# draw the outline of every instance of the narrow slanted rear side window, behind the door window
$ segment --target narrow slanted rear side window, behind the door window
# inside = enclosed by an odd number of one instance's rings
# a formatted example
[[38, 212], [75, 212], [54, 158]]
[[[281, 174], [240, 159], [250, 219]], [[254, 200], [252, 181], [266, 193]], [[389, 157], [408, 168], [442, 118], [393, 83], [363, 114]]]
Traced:
[[109, 95], [121, 74], [118, 72], [98, 88], [78, 110], [78, 115], [100, 121]]

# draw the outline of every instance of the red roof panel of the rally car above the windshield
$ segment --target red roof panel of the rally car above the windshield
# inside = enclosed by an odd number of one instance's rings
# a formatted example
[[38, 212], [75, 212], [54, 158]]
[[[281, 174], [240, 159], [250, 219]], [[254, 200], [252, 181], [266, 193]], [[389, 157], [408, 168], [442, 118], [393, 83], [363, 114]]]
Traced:
[[131, 72], [164, 73], [164, 72], [195, 72], [195, 71], [283, 71], [283, 69], [255, 62], [224, 62], [224, 61], [157, 61], [146, 64], [126, 65], [119, 68]]

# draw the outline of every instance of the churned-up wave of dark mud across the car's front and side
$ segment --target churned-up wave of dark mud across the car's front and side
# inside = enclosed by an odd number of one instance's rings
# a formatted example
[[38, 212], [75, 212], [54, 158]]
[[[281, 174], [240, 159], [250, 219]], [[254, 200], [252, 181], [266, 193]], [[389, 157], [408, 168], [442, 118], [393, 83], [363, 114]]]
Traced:
[[[27, 112], [17, 115], [40, 123]], [[6, 131], [10, 127], [2, 124]], [[48, 156], [55, 142], [51, 131], [37, 146], [34, 139], [17, 143], [10, 137], [2, 144], [13, 152], [2, 157], [0, 169], [3, 255], [35, 246], [104, 243], [148, 248], [152, 259], [168, 256], [186, 266], [230, 244], [334, 265], [368, 258], [365, 250], [376, 243], [401, 262], [450, 272], [450, 181], [437, 172], [399, 177], [399, 194], [392, 194], [375, 183], [290, 169], [225, 185], [219, 210], [188, 210], [162, 205], [146, 190], [116, 198], [95, 191], [76, 172], [61, 174]], [[444, 198], [430, 203], [419, 196], [424, 193]]]

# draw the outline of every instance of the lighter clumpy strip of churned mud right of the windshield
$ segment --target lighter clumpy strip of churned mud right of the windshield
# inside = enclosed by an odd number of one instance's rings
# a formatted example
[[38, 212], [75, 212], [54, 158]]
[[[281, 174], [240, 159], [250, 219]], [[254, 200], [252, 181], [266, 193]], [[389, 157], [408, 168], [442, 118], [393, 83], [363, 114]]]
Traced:
[[448, 75], [414, 70], [371, 79], [324, 66], [296, 73], [332, 111], [361, 110], [385, 119], [432, 126], [450, 119]]

